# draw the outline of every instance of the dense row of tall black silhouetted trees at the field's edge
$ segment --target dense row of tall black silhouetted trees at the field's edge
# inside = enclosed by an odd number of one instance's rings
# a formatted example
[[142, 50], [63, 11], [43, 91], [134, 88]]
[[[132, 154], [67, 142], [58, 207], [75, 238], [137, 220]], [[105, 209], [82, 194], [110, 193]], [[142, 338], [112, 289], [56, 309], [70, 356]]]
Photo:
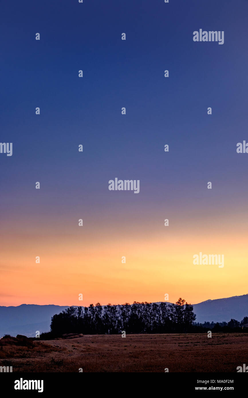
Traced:
[[[99, 302], [89, 307], [71, 306], [51, 320], [51, 335], [126, 333], [186, 333], [195, 320], [193, 306], [179, 298], [176, 304], [126, 302], [121, 305]], [[51, 336], [50, 336], [51, 337]]]

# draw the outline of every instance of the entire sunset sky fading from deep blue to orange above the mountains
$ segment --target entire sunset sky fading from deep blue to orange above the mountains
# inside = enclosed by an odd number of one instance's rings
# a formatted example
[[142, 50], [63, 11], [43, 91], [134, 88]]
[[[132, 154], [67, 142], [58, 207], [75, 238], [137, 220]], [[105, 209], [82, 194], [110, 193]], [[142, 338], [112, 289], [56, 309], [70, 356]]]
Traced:
[[[0, 140], [13, 153], [0, 153], [0, 305], [248, 293], [248, 154], [236, 152], [248, 142], [248, 2], [1, 9]], [[224, 44], [194, 42], [199, 29], [224, 31]], [[140, 192], [109, 191], [115, 178]], [[224, 267], [194, 265], [200, 252]]]

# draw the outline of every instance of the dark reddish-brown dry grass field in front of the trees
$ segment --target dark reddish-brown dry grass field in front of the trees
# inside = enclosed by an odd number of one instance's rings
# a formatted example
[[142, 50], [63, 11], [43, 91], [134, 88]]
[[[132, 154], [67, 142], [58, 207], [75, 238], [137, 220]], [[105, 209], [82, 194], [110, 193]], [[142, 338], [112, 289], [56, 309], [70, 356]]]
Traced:
[[236, 372], [248, 364], [248, 334], [127, 334], [13, 343], [0, 366], [13, 372]]

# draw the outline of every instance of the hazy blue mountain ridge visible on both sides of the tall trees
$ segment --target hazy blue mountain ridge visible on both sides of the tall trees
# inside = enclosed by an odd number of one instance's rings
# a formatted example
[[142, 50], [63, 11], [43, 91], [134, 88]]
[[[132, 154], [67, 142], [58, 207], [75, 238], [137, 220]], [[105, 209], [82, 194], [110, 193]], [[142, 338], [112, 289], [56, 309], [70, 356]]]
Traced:
[[[68, 307], [54, 304], [0, 306], [0, 337], [4, 334], [34, 337], [37, 330], [40, 333], [47, 332], [50, 330], [51, 317]], [[193, 311], [196, 314], [196, 322], [200, 323], [228, 322], [231, 318], [241, 321], [244, 316], [248, 316], [248, 294], [193, 304]]]

